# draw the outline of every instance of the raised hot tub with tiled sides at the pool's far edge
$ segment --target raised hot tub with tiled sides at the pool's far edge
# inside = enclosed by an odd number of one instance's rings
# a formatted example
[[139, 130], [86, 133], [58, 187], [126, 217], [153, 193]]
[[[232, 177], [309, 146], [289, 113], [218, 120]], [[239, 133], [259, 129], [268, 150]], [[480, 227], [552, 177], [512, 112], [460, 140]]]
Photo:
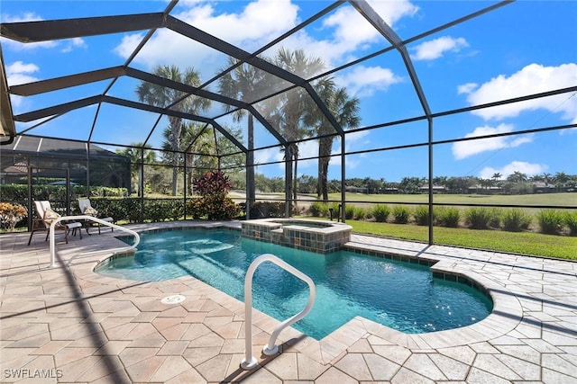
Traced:
[[256, 219], [243, 221], [243, 237], [280, 246], [327, 254], [351, 239], [351, 226], [307, 219]]

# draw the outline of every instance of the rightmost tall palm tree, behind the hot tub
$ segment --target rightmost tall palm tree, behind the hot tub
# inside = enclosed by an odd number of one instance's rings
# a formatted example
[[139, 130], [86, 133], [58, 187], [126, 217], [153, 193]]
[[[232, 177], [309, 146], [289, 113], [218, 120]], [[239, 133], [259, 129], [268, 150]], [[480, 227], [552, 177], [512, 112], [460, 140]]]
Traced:
[[[318, 82], [315, 86], [319, 97], [325, 102], [329, 112], [343, 129], [356, 128], [359, 125], [359, 99], [351, 98], [346, 88], [336, 88], [332, 77]], [[316, 105], [309, 104], [305, 117], [307, 125], [316, 126], [318, 139], [318, 186], [316, 195], [328, 201], [327, 175], [333, 149], [334, 127], [318, 110]], [[329, 136], [330, 135], [330, 136]]]

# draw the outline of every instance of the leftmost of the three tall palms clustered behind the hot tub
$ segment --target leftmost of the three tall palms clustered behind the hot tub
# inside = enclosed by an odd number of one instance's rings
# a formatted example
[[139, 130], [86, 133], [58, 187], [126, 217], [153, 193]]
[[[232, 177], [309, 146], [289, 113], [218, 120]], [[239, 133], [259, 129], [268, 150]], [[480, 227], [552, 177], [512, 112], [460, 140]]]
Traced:
[[[235, 66], [235, 67], [234, 67]], [[239, 60], [235, 58], [228, 59], [228, 67], [234, 67], [234, 69], [228, 72], [226, 75], [222, 76], [218, 80], [218, 86], [220, 88], [220, 93], [224, 96], [231, 97], [237, 100], [241, 100], [245, 103], [252, 103], [261, 97], [262, 91], [266, 88], [267, 82], [265, 81], [267, 76], [266, 73], [248, 65], [246, 63], [239, 65]], [[231, 111], [233, 109], [232, 105], [225, 105], [226, 111]], [[243, 119], [245, 111], [242, 109], [237, 109], [234, 112], [234, 120], [241, 121]], [[246, 167], [246, 178], [247, 178], [247, 200], [249, 203], [255, 201], [254, 192], [254, 116], [252, 113], [248, 113], [247, 119], [247, 167]], [[252, 186], [251, 188], [248, 188]]]

